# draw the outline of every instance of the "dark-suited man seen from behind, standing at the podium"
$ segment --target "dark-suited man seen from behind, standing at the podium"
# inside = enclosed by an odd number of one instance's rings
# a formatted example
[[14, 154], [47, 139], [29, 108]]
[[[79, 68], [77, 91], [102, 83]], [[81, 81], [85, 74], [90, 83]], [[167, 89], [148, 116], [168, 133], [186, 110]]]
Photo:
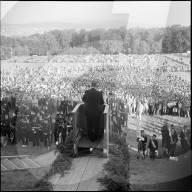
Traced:
[[103, 96], [96, 89], [97, 82], [94, 80], [91, 84], [91, 89], [86, 90], [82, 100], [85, 104], [85, 115], [87, 116], [88, 137], [94, 142], [97, 140], [100, 119], [103, 114]]

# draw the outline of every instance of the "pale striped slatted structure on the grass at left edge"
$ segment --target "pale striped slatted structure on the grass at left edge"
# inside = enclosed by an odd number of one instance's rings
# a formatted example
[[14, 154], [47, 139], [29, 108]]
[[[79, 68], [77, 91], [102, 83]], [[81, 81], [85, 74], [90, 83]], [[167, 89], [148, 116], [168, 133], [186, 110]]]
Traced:
[[14, 169], [32, 169], [41, 167], [28, 155], [1, 156], [1, 171]]

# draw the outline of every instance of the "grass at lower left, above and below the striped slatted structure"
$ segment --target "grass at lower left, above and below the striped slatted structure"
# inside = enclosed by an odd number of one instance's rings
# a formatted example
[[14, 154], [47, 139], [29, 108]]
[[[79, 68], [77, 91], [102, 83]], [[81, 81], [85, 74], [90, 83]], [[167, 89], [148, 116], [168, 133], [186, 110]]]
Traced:
[[[32, 157], [37, 157], [42, 154], [46, 154], [55, 149], [55, 145], [47, 149], [41, 143], [39, 147], [33, 147], [32, 144], [26, 148], [23, 148], [19, 143], [13, 147], [3, 147], [1, 148], [1, 156], [14, 156], [14, 155], [30, 155]], [[49, 170], [49, 166], [38, 168], [38, 169], [28, 169], [28, 170], [9, 170], [1, 172], [1, 190], [2, 191], [39, 191], [35, 188], [35, 184], [42, 179], [46, 171]]]

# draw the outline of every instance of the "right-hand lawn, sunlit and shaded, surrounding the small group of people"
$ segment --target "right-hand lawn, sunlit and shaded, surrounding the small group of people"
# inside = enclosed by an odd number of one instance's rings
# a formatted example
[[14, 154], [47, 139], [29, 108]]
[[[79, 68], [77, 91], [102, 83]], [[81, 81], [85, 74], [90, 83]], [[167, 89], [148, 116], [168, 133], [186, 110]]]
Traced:
[[[140, 126], [145, 129], [148, 140], [154, 131], [160, 134], [160, 128], [167, 119], [170, 124], [174, 124], [178, 133], [181, 126], [191, 127], [189, 118], [179, 118], [172, 116], [143, 116]], [[137, 120], [135, 117], [129, 117], [129, 128], [125, 131], [128, 134], [128, 142], [132, 147], [137, 148], [136, 131]], [[191, 175], [191, 152], [181, 155], [181, 145], [178, 142], [175, 155], [178, 161], [172, 161], [163, 156], [161, 145], [161, 135], [158, 135], [159, 157], [152, 161], [147, 156], [145, 160], [136, 158], [136, 151], [130, 150], [130, 183], [134, 190], [153, 191], [153, 190], [189, 190], [191, 184], [189, 176]]]

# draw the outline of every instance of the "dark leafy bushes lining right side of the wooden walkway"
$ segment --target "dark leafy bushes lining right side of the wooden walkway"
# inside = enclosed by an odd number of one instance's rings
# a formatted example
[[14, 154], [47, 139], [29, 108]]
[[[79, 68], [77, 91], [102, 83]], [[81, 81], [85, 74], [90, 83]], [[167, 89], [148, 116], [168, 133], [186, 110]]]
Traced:
[[110, 158], [104, 165], [106, 174], [98, 181], [106, 188], [106, 191], [130, 191], [130, 156], [126, 136], [112, 134], [111, 139], [114, 145], [109, 148]]

